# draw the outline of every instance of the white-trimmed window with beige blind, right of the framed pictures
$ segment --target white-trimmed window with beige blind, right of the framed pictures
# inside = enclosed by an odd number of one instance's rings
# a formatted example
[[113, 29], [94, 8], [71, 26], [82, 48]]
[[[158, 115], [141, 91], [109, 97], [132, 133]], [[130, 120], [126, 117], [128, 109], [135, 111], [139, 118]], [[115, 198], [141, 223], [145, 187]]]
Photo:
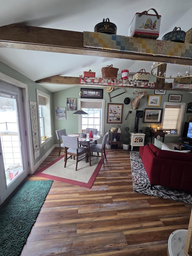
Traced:
[[177, 130], [181, 134], [185, 103], [164, 102], [162, 127], [164, 131]]

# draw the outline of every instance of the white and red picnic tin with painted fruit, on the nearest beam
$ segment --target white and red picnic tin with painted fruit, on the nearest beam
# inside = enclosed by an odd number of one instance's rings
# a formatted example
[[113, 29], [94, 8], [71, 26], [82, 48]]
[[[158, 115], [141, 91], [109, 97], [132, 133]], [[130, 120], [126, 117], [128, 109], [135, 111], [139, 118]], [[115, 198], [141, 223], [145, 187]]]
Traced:
[[[149, 14], [149, 10], [153, 10], [155, 14]], [[129, 25], [128, 36], [152, 39], [159, 37], [161, 15], [153, 8], [149, 10], [135, 14]]]

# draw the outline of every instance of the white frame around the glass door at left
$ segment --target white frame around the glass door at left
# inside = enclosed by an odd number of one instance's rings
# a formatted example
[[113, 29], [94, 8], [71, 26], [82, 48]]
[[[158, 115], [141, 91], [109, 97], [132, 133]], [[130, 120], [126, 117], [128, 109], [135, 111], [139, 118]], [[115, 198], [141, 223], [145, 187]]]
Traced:
[[27, 144], [27, 157], [29, 162], [29, 173], [33, 174], [34, 169], [34, 161], [33, 161], [33, 148], [32, 148], [32, 131], [31, 127], [31, 119], [30, 119], [30, 110], [29, 110], [29, 96], [28, 96], [28, 87], [27, 84], [22, 83], [19, 80], [14, 79], [13, 77], [9, 77], [0, 72], [0, 81], [9, 83], [10, 85], [17, 86], [21, 88], [22, 97], [23, 97], [23, 112], [24, 112], [24, 125], [26, 131], [26, 144]]

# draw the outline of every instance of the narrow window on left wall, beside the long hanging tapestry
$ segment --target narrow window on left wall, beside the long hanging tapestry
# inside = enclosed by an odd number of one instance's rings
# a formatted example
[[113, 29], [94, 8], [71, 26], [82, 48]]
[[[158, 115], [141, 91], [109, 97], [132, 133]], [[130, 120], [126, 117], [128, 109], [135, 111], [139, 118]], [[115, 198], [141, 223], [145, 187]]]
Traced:
[[[44, 92], [36, 90], [37, 108], [39, 109], [39, 138], [40, 146], [51, 137], [51, 115], [50, 115], [50, 96]], [[43, 137], [46, 136], [46, 139]]]

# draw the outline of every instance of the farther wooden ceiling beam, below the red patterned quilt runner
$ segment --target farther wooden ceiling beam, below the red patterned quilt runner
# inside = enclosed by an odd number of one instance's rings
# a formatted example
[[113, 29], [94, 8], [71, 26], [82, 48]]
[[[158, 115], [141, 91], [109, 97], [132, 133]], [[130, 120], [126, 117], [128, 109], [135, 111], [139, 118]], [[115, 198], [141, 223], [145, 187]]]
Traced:
[[[99, 85], [99, 84], [84, 84], [80, 83], [79, 77], [63, 77], [63, 76], [52, 76], [46, 77], [40, 80], [35, 81], [36, 83], [47, 83], [47, 84], [61, 84], [61, 85], [80, 85], [82, 86], [99, 86], [99, 87], [107, 87], [109, 85]], [[122, 86], [112, 86], [119, 87]], [[136, 88], [135, 86], [124, 86], [124, 88]], [[138, 87], [140, 88], [140, 87]], [[172, 90], [172, 91], [189, 91], [189, 89], [172, 89], [172, 83], [155, 83], [154, 88], [145, 88], [145, 89], [162, 89], [162, 90]]]

